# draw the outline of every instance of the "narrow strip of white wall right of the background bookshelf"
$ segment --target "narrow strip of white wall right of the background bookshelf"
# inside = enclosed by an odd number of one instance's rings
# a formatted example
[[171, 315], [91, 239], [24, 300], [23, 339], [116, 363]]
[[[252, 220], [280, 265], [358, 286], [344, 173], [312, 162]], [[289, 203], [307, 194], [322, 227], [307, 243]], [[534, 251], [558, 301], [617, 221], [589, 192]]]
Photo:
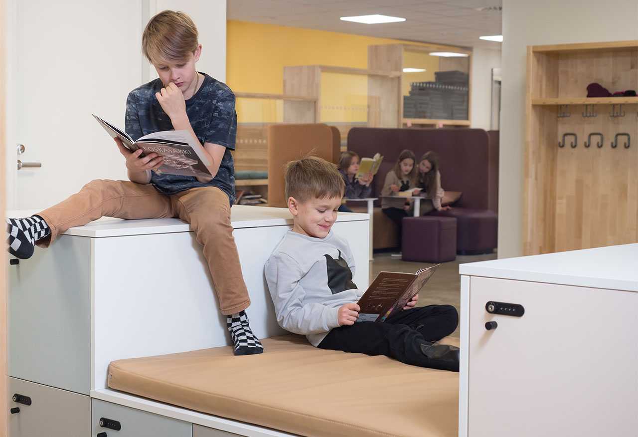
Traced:
[[471, 127], [489, 130], [492, 111], [492, 68], [501, 66], [501, 45], [472, 52]]

